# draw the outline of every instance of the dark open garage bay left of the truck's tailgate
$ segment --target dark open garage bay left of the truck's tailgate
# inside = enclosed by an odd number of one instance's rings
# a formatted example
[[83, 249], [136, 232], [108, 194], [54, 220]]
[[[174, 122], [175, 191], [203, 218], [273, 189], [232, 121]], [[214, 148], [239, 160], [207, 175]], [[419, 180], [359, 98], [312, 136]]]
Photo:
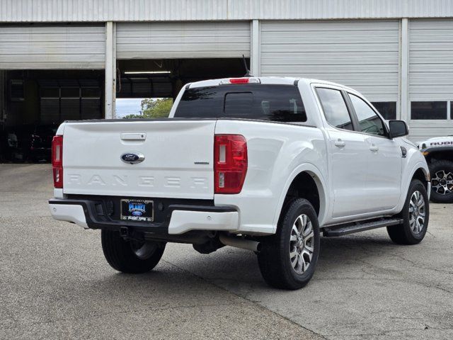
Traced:
[[0, 162], [49, 162], [64, 120], [104, 117], [103, 70], [0, 71]]

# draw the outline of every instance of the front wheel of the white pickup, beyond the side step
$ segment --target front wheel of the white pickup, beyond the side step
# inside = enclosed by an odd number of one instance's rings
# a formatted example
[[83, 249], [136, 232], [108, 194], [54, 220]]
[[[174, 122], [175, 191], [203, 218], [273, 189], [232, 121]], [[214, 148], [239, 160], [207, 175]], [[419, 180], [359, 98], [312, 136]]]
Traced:
[[414, 179], [409, 186], [406, 203], [399, 214], [401, 225], [387, 227], [387, 232], [396, 244], [418, 244], [425, 237], [430, 220], [430, 203], [423, 183]]

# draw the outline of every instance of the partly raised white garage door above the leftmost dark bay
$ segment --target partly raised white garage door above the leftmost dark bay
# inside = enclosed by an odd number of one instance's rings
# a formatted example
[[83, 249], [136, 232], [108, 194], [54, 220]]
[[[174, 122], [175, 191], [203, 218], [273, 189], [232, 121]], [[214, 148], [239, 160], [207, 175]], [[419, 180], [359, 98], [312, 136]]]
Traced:
[[102, 69], [104, 26], [0, 27], [0, 69]]

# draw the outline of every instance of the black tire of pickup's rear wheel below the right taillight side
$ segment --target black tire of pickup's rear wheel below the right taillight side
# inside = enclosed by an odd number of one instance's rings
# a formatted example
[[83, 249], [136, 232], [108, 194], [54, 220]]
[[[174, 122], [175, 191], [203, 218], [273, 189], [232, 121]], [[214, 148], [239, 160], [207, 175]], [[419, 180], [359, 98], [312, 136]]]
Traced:
[[[293, 225], [297, 224], [297, 218], [302, 215], [308, 217], [308, 220], [311, 222], [313, 235], [310, 239], [308, 236], [304, 239], [303, 235], [301, 235], [304, 230], [306, 230], [307, 235], [311, 234], [309, 223], [306, 222], [307, 227], [302, 227], [301, 234], [297, 236], [301, 237], [302, 241], [300, 239], [299, 241], [291, 241], [290, 237], [293, 236], [292, 233], [294, 232]], [[309, 244], [310, 247], [312, 246], [313, 251], [311, 253], [311, 260], [307, 261], [309, 265], [302, 273], [297, 273], [297, 268], [293, 267], [292, 259], [294, 259], [295, 266], [298, 266], [298, 268], [300, 267], [299, 263], [302, 264], [302, 261], [304, 261], [303, 268], [305, 268], [305, 259], [309, 259], [308, 257], [304, 257], [309, 256], [308, 253], [304, 252], [302, 252], [304, 254], [302, 256], [296, 255], [291, 257], [290, 249], [293, 251], [292, 254], [295, 254], [294, 251], [297, 251], [297, 254], [299, 254], [297, 244], [300, 244], [300, 242], [304, 246], [305, 244]], [[294, 290], [304, 287], [304, 285], [309, 283], [309, 280], [314, 274], [319, 256], [319, 246], [318, 216], [313, 205], [304, 198], [292, 200], [282, 211], [282, 216], [277, 227], [277, 234], [271, 237], [268, 242], [264, 242], [261, 251], [258, 253], [258, 265], [260, 266], [261, 275], [265, 282], [275, 288], [282, 289]], [[301, 262], [298, 261], [299, 258]]]

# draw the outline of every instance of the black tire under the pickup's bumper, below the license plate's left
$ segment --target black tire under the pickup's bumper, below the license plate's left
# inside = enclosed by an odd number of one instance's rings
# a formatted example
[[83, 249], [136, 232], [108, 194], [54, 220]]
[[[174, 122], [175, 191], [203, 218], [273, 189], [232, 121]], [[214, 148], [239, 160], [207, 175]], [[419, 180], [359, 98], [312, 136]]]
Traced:
[[108, 264], [122, 273], [134, 274], [151, 271], [159, 263], [166, 245], [157, 242], [125, 241], [120, 232], [106, 229], [101, 231], [101, 241]]

